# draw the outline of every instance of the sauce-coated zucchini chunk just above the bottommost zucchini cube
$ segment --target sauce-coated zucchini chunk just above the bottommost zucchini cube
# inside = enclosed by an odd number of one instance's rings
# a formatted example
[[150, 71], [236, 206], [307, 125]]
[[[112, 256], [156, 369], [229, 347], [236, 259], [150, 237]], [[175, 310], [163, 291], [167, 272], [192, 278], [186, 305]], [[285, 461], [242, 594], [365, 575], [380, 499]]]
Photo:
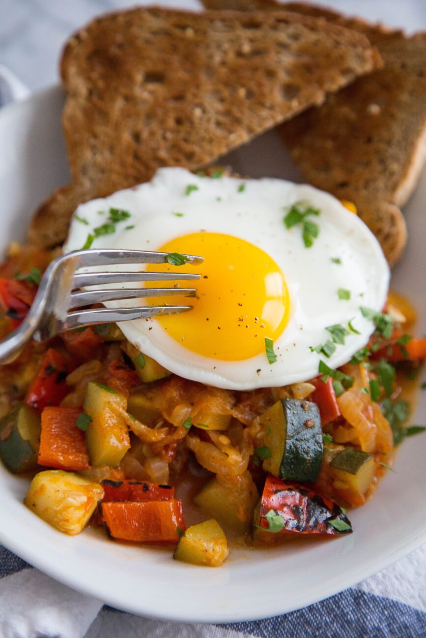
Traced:
[[194, 503], [218, 519], [226, 528], [243, 534], [250, 525], [258, 498], [259, 494], [251, 477], [241, 489], [222, 485], [217, 479], [212, 479], [195, 496]]

